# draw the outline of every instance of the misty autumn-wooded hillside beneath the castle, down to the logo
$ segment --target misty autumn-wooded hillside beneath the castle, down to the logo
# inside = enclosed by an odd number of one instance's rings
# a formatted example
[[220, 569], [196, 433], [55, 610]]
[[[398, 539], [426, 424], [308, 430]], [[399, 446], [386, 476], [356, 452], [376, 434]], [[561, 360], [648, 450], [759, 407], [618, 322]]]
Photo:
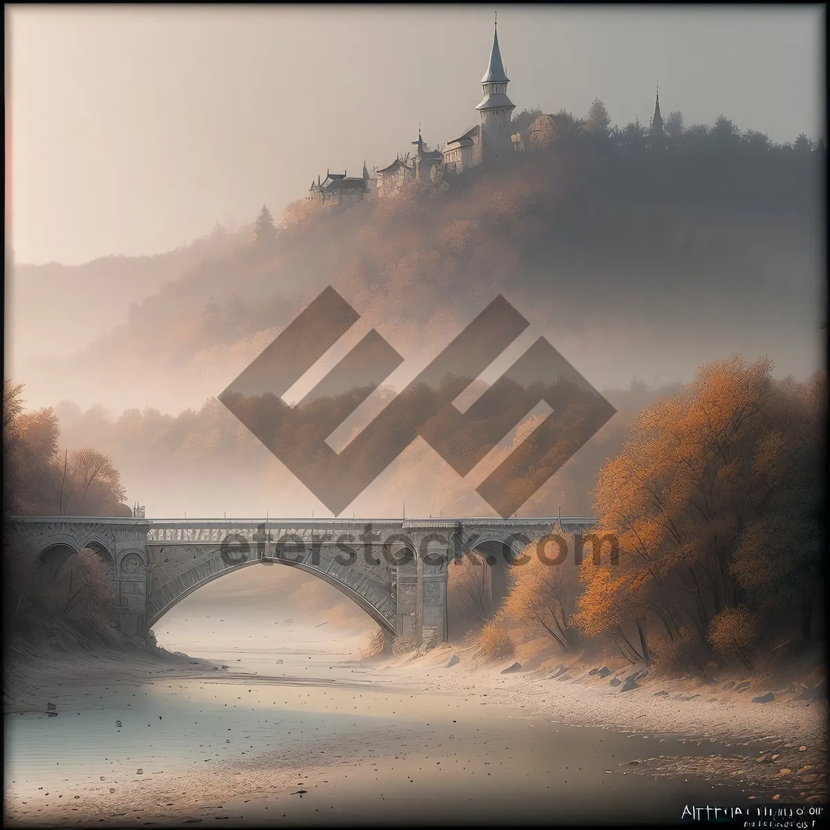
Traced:
[[[407, 358], [437, 350], [504, 292], [600, 385], [689, 378], [735, 353], [809, 374], [809, 334], [823, 322], [823, 152], [735, 129], [690, 128], [656, 147], [630, 127], [577, 130], [503, 168], [349, 210], [300, 199], [273, 232], [266, 223], [254, 241], [238, 233], [136, 263], [140, 277], [125, 260], [113, 284], [150, 289], [125, 322], [107, 310], [102, 261], [100, 302], [90, 277], [71, 314], [119, 325], [52, 361], [51, 388], [115, 408], [198, 406], [326, 285]], [[152, 383], [131, 398], [149, 366]]]

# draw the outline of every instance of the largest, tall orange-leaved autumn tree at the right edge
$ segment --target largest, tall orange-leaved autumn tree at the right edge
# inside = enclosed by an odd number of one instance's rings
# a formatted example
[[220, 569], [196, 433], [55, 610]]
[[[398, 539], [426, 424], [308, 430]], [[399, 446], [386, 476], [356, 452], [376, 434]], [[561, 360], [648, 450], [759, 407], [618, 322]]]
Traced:
[[769, 360], [733, 358], [641, 413], [598, 476], [596, 514], [619, 559], [583, 564], [584, 633], [647, 660], [655, 627], [707, 647], [728, 609], [780, 627], [812, 608], [822, 390], [823, 379], [777, 382]]

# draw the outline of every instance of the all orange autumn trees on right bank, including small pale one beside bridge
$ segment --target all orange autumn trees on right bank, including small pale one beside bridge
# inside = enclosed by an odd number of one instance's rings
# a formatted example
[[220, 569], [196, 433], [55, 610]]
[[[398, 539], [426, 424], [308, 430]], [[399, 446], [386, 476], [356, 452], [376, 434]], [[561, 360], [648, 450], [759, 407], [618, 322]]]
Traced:
[[564, 652], [595, 642], [705, 674], [820, 642], [825, 408], [824, 373], [796, 383], [766, 359], [701, 367], [642, 410], [598, 473], [597, 535], [616, 540], [616, 563], [606, 546], [579, 567], [513, 569], [486, 647], [503, 649], [505, 623], [520, 622]]

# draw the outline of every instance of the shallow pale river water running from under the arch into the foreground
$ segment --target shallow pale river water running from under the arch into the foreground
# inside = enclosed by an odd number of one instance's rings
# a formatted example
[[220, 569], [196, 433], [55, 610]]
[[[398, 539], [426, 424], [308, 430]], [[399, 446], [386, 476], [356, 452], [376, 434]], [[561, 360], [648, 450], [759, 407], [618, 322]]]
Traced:
[[[686, 803], [751, 803], [740, 788], [628, 765], [733, 749], [567, 726], [472, 693], [419, 693], [357, 662], [359, 638], [332, 641], [288, 621], [251, 632], [245, 609], [220, 620], [165, 618], [157, 631], [167, 647], [228, 666], [216, 676], [76, 688], [54, 717], [7, 715], [10, 818], [49, 820], [71, 801], [73, 823], [647, 823], [678, 821]], [[216, 783], [188, 793], [207, 769], [234, 776], [233, 793]], [[164, 787], [183, 787], [188, 804], [177, 808]]]

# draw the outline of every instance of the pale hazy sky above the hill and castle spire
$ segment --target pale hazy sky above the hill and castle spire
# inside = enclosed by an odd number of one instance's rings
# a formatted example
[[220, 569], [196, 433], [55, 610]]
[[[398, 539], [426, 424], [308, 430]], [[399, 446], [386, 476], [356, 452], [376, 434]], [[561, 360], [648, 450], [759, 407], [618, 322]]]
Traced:
[[[6, 7], [18, 262], [168, 251], [519, 110], [823, 135], [823, 7]], [[10, 71], [8, 71], [10, 70]], [[11, 86], [11, 92], [8, 88]], [[8, 125], [11, 113], [11, 130]], [[9, 163], [7, 160], [7, 170]]]

